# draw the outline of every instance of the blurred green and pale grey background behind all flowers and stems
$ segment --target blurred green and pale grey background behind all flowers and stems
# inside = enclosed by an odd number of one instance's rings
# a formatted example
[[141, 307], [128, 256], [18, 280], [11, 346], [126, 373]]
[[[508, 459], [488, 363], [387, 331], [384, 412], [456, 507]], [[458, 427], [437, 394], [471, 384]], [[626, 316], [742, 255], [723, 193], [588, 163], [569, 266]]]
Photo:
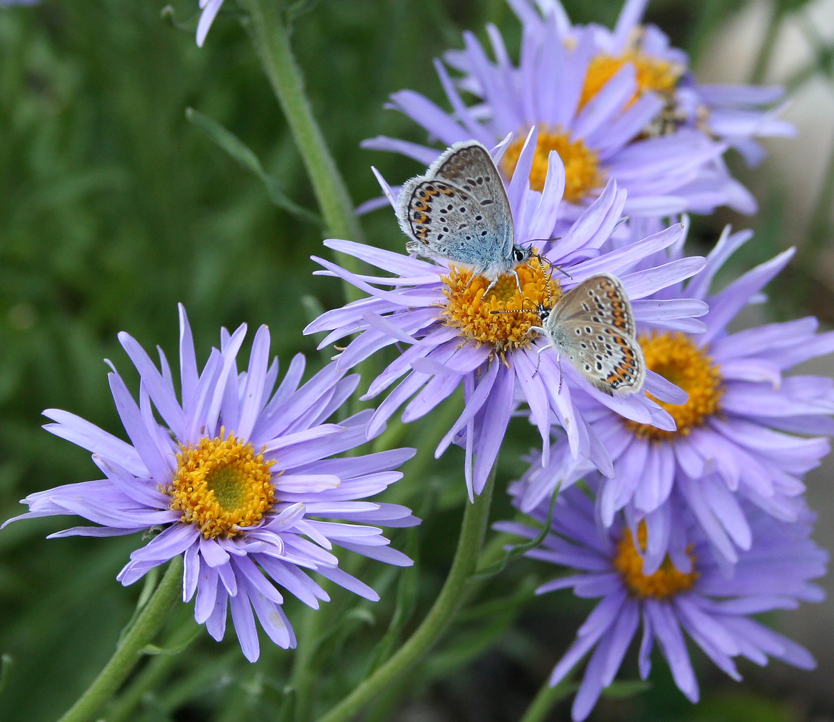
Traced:
[[[94, 477], [86, 452], [40, 429], [41, 411], [68, 409], [120, 433], [103, 358], [134, 388], [136, 379], [118, 331], [145, 348], [158, 344], [173, 358], [176, 303], [183, 302], [203, 361], [221, 326], [245, 322], [254, 331], [268, 323], [282, 364], [302, 351], [314, 366], [320, 363], [314, 339], [301, 329], [317, 304], [333, 308], [343, 300], [338, 283], [311, 275], [317, 267], [309, 256], [326, 252], [320, 228], [271, 203], [264, 183], [186, 118], [186, 108], [194, 108], [222, 123], [287, 197], [315, 210], [234, 0], [225, 3], [203, 49], [194, 43], [197, 3], [177, 0], [166, 13], [163, 4], [0, 2], [0, 519], [21, 513], [18, 500], [26, 494]], [[575, 22], [610, 25], [620, 0], [565, 6]], [[520, 35], [503, 0], [424, 0], [419, 8], [405, 0], [308, 0], [293, 7], [294, 50], [309, 99], [354, 203], [379, 195], [371, 164], [391, 183], [422, 170], [406, 158], [359, 148], [378, 133], [425, 140], [414, 124], [383, 109], [388, 93], [414, 88], [445, 107], [432, 58], [460, 48], [463, 29], [484, 38], [487, 22], [501, 28], [508, 48], [518, 47]], [[708, 250], [725, 223], [754, 228], [755, 239], [731, 261], [735, 275], [796, 245], [799, 253], [771, 288], [771, 302], [749, 320], [810, 311], [830, 327], [834, 0], [654, 0], [647, 18], [691, 53], [701, 80], [789, 88], [784, 117], [796, 123], [798, 137], [769, 143], [770, 158], [754, 170], [731, 158], [760, 213], [696, 219], [691, 251]], [[403, 247], [388, 209], [362, 223], [369, 243]], [[822, 359], [803, 370], [831, 375], [834, 364]], [[424, 431], [425, 424], [413, 424], [404, 444], [416, 443]], [[523, 470], [518, 459], [530, 443], [525, 424], [513, 429], [499, 489]], [[455, 544], [464, 492], [456, 452], [430, 478], [411, 479], [425, 485], [417, 509], [426, 519], [422, 542], [414, 533], [393, 534], [394, 545], [419, 562], [403, 577], [420, 589], [412, 624], [439, 589]], [[832, 468], [826, 464], [808, 479], [811, 507], [820, 514], [816, 539], [827, 549], [834, 549]], [[495, 519], [510, 516], [497, 497]], [[0, 534], [0, 653], [10, 659], [0, 691], [3, 719], [40, 722], [63, 713], [112, 653], [141, 591], [141, 584], [123, 589], [114, 579], [138, 539], [44, 539], [72, 524], [38, 519]], [[362, 569], [362, 578], [380, 592], [394, 589], [398, 580], [381, 566]], [[383, 699], [367, 719], [518, 719], [590, 609], [565, 592], [517, 614], [515, 602], [549, 574], [531, 562], [513, 564], [430, 663], [409, 677], [403, 701]], [[830, 582], [823, 584], [831, 590]], [[371, 605], [335, 594], [333, 604], [348, 621], [316, 659], [324, 706], [355, 684], [356, 660], [392, 614], [385, 600]], [[290, 619], [300, 611], [288, 605]], [[173, 619], [174, 639], [191, 614], [183, 607]], [[641, 694], [622, 696], [631, 689], [622, 685], [620, 696], [603, 699], [590, 719], [834, 720], [834, 601], [768, 621], [811, 649], [818, 669], [742, 662], [746, 682], [736, 684], [696, 652], [700, 705], [683, 698], [659, 663]], [[259, 663], [248, 664], [231, 629], [222, 644], [199, 634], [183, 654], [140, 670], [149, 678], [143, 689], [153, 691], [129, 704], [122, 700], [108, 719], [279, 719], [293, 653], [262, 646]], [[620, 676], [637, 679], [636, 669], [626, 665]], [[552, 719], [567, 719], [567, 710], [560, 705]]]

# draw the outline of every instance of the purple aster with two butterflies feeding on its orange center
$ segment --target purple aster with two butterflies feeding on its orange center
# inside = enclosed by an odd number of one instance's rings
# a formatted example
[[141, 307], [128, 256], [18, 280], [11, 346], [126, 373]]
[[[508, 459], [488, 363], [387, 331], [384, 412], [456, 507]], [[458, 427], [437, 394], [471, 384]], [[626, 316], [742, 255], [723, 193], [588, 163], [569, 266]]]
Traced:
[[[558, 155], [552, 153], [545, 187], [539, 193], [527, 183], [534, 152], [535, 131], [527, 138], [507, 188], [515, 219], [516, 243], [550, 238], [550, 229], [560, 214], [560, 198], [565, 187], [563, 165]], [[394, 203], [390, 188], [381, 178], [380, 183]], [[500, 277], [495, 288], [485, 293], [489, 281], [472, 278], [469, 270], [349, 241], [327, 240], [324, 243], [329, 248], [394, 275], [359, 276], [314, 257], [326, 269], [319, 273], [343, 278], [368, 296], [324, 313], [304, 333], [330, 332], [319, 348], [359, 333], [336, 357], [339, 369], [350, 369], [394, 343], [409, 347], [373, 380], [363, 397], [374, 398], [399, 380], [399, 385], [374, 412], [369, 434], [384, 429], [390, 416], [410, 397], [414, 399], [403, 412], [406, 422], [428, 414], [462, 385], [465, 409], [445, 434], [435, 455], [440, 456], [453, 442], [465, 447], [465, 479], [470, 498], [480, 494], [495, 463], [510, 414], [517, 405], [517, 389], [529, 405], [531, 419], [542, 439], [550, 439], [550, 425], [555, 420], [566, 429], [573, 458], [588, 458], [603, 473], [610, 474], [608, 451], [589, 433], [590, 427], [575, 404], [576, 397], [590, 395], [617, 416], [622, 414], [638, 424], [655, 424], [661, 429], [674, 428], [671, 417], [643, 391], [608, 396], [594, 389], [570, 362], [559, 364], [555, 352], [537, 353], [547, 342], [531, 330], [540, 323], [533, 309], [559, 303], [562, 293], [596, 273], [613, 273], [620, 277], [631, 298], [636, 318], [645, 323], [663, 327], [671, 323], [674, 328], [677, 319], [685, 317], [687, 328], [692, 328], [698, 322], [690, 317], [706, 311], [706, 306], [697, 300], [669, 298], [648, 303], [642, 300], [660, 288], [691, 276], [701, 268], [703, 259], [677, 258], [632, 273], [631, 268], [641, 258], [676, 243], [681, 238], [682, 227], [666, 228], [641, 243], [608, 250], [605, 243], [620, 221], [624, 203], [625, 193], [611, 180], [600, 198], [568, 226], [562, 238], [549, 244], [544, 264], [534, 256], [530, 263], [518, 266], [523, 300], [514, 275]], [[494, 313], [505, 310], [518, 313]], [[656, 374], [648, 375], [644, 388], [656, 398], [671, 403], [682, 403], [685, 399], [680, 389]], [[545, 446], [545, 463], [548, 449]]]

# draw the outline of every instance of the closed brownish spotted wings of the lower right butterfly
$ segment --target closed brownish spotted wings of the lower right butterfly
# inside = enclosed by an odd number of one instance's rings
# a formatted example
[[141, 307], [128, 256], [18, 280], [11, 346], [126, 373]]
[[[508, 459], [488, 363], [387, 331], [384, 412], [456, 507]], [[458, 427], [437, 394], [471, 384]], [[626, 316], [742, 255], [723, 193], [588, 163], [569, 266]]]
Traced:
[[635, 394], [646, 380], [646, 360], [635, 337], [625, 290], [608, 273], [586, 278], [556, 303], [545, 320], [550, 343], [606, 394]]

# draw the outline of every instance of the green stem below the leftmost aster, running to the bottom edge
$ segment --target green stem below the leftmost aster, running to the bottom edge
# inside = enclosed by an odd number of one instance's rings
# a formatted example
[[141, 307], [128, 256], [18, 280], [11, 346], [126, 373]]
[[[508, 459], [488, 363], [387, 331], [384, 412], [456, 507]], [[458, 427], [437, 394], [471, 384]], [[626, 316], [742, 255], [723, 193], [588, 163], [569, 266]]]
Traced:
[[153, 595], [148, 599], [133, 626], [123, 635], [118, 648], [104, 669], [93, 680], [87, 691], [68, 709], [58, 722], [86, 722], [106, 702], [130, 674], [162, 627], [168, 612], [177, 602], [183, 589], [183, 559], [174, 557]]

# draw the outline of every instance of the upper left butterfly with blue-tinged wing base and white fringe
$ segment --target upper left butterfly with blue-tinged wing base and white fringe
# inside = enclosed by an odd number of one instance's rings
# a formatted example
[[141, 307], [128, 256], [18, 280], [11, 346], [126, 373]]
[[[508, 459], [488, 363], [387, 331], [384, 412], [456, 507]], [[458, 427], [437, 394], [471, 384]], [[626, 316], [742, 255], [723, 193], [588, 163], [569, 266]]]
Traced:
[[[476, 140], [455, 143], [425, 175], [407, 181], [397, 200], [399, 228], [409, 236], [406, 250], [440, 258], [484, 276], [495, 286], [532, 255], [515, 243], [513, 214], [490, 152]], [[471, 282], [471, 279], [470, 279]]]

